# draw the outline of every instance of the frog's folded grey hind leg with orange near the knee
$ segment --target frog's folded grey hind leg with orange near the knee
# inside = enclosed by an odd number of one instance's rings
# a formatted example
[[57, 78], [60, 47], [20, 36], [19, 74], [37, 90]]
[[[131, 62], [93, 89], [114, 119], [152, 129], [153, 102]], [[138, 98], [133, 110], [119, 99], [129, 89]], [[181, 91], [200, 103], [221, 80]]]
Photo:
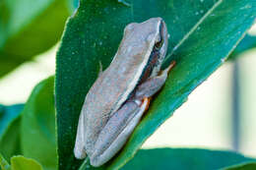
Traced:
[[109, 118], [98, 135], [95, 152], [89, 155], [93, 166], [104, 164], [121, 149], [147, 110], [148, 104], [148, 98], [142, 101], [127, 101]]

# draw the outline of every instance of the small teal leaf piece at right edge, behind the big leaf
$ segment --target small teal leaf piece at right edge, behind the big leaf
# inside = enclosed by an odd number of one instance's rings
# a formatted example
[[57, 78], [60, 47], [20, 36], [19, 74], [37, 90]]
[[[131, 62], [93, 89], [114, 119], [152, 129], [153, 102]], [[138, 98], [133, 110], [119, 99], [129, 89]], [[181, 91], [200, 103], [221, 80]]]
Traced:
[[249, 49], [256, 47], [256, 35], [246, 34], [244, 38], [239, 42], [239, 44], [235, 47], [231, 55], [229, 55], [228, 60], [234, 60], [239, 55]]

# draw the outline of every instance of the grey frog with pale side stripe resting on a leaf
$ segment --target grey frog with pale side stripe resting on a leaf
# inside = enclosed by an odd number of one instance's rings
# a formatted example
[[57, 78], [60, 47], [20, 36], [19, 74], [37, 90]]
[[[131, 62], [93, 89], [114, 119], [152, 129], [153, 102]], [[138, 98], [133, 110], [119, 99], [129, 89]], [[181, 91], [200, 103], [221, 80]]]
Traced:
[[161, 70], [167, 43], [166, 24], [160, 17], [126, 26], [113, 60], [85, 97], [76, 158], [89, 156], [91, 165], [98, 167], [127, 142], [175, 64]]

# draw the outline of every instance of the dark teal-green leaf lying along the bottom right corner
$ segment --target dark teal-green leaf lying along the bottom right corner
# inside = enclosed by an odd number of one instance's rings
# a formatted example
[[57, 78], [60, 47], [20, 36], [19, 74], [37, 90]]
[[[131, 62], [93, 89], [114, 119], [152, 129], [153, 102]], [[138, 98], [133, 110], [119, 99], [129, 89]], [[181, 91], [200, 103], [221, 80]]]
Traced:
[[141, 149], [122, 170], [144, 169], [220, 169], [238, 163], [254, 161], [241, 154], [199, 148]]

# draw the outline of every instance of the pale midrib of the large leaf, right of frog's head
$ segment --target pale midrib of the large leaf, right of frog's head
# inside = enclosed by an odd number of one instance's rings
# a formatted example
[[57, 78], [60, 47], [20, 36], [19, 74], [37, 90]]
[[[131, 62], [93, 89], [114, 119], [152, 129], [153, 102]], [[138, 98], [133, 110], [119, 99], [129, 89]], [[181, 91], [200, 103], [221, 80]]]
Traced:
[[178, 49], [180, 45], [185, 42], [186, 39], [207, 19], [208, 16], [212, 14], [212, 12], [223, 2], [223, 0], [218, 0], [212, 8], [210, 8], [207, 13], [195, 24], [194, 27], [190, 28], [190, 30], [180, 39], [180, 41], [172, 48], [170, 53], [165, 58], [165, 61], [169, 59], [169, 57], [174, 53], [175, 50]]

